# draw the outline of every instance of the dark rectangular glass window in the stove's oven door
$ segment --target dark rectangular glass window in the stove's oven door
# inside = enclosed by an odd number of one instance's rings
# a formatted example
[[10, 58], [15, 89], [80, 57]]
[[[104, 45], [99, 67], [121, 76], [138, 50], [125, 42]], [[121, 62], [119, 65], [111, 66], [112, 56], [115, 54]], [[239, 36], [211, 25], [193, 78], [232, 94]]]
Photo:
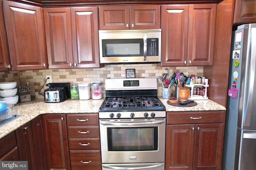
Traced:
[[158, 127], [108, 127], [108, 151], [158, 149]]

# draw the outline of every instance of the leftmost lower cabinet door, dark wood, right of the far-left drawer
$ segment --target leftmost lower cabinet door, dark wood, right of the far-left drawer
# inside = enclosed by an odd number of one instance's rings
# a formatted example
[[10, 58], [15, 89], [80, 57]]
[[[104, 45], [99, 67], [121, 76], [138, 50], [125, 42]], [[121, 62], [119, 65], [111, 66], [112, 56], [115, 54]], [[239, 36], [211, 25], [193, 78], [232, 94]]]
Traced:
[[26, 123], [17, 129], [16, 137], [20, 160], [28, 161], [29, 170], [36, 169], [31, 123]]

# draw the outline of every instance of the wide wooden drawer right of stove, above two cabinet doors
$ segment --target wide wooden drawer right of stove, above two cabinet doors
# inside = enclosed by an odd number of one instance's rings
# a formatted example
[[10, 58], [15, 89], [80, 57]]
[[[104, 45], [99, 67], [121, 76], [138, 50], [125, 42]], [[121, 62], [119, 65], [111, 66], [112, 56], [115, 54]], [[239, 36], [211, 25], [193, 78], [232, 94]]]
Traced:
[[166, 124], [223, 123], [225, 111], [167, 112]]

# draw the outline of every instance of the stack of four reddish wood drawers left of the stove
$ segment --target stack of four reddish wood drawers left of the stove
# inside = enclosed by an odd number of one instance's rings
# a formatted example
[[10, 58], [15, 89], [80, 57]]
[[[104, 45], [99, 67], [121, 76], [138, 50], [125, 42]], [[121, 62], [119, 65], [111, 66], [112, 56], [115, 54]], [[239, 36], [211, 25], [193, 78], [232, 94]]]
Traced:
[[67, 114], [72, 170], [101, 170], [98, 113]]

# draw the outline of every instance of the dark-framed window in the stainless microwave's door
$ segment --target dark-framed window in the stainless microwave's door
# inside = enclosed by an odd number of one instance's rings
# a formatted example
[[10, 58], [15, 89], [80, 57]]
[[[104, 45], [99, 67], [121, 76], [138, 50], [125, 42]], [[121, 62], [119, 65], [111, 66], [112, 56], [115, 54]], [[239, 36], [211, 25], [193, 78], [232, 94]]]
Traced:
[[143, 39], [102, 39], [102, 56], [143, 56]]

